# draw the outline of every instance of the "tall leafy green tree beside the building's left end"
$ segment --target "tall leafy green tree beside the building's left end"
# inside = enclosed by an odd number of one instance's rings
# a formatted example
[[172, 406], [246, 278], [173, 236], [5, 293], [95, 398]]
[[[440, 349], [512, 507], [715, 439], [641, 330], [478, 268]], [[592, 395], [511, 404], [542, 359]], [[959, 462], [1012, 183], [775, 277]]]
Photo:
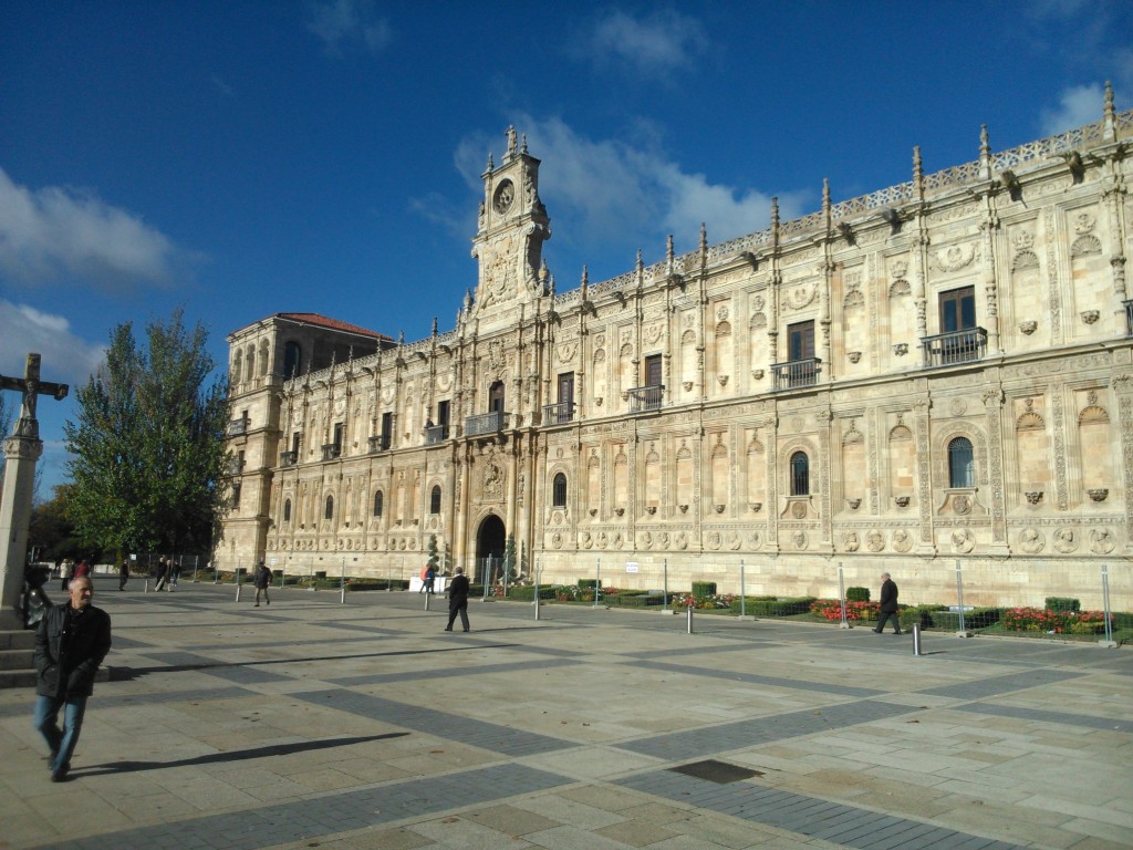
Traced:
[[[227, 381], [207, 332], [178, 309], [152, 321], [145, 349], [131, 323], [110, 334], [107, 363], [78, 390], [78, 420], [63, 428], [79, 536], [118, 555], [211, 551], [223, 512]], [[211, 383], [210, 383], [211, 380]]]

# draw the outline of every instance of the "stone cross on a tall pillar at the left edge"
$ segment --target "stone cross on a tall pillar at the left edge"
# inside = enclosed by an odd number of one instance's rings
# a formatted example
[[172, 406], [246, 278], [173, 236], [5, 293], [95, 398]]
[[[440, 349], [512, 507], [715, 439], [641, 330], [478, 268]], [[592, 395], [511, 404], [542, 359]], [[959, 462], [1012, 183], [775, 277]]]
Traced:
[[29, 354], [24, 377], [0, 375], [0, 390], [24, 393], [24, 405], [11, 436], [5, 440], [3, 501], [0, 502], [0, 537], [3, 539], [3, 561], [0, 563], [0, 631], [22, 629], [23, 619], [17, 610], [24, 589], [24, 567], [27, 560], [27, 526], [32, 520], [32, 487], [35, 483], [35, 461], [43, 453], [40, 423], [35, 419], [37, 398], [52, 396], [67, 398], [67, 384], [40, 380], [40, 356]]

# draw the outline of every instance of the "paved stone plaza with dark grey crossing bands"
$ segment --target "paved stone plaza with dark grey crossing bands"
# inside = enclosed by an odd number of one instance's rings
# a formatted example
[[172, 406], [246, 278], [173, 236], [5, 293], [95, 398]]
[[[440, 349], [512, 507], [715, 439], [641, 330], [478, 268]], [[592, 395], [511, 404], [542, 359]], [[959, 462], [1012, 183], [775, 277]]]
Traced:
[[130, 585], [69, 782], [0, 691], [0, 848], [1133, 845], [1125, 648]]

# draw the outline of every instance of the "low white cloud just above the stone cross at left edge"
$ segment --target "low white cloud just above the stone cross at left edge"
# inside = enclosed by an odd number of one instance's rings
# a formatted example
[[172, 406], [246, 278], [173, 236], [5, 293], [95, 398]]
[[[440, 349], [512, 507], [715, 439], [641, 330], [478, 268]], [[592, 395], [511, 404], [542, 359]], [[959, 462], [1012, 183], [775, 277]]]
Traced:
[[41, 356], [44, 381], [66, 383], [71, 391], [91, 380], [105, 358], [105, 346], [93, 345], [70, 330], [60, 315], [0, 299], [0, 373], [22, 376], [28, 352]]

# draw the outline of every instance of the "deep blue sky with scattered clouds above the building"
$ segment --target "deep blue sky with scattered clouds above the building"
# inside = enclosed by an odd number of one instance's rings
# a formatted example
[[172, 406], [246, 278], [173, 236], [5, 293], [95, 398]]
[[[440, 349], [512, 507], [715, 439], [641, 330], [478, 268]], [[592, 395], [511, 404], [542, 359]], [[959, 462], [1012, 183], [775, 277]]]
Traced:
[[[0, 3], [0, 373], [86, 383], [111, 330], [317, 312], [454, 324], [488, 151], [526, 133], [556, 289], [1100, 119], [1133, 5]], [[18, 399], [8, 393], [11, 408]], [[73, 399], [40, 405], [40, 498]]]

